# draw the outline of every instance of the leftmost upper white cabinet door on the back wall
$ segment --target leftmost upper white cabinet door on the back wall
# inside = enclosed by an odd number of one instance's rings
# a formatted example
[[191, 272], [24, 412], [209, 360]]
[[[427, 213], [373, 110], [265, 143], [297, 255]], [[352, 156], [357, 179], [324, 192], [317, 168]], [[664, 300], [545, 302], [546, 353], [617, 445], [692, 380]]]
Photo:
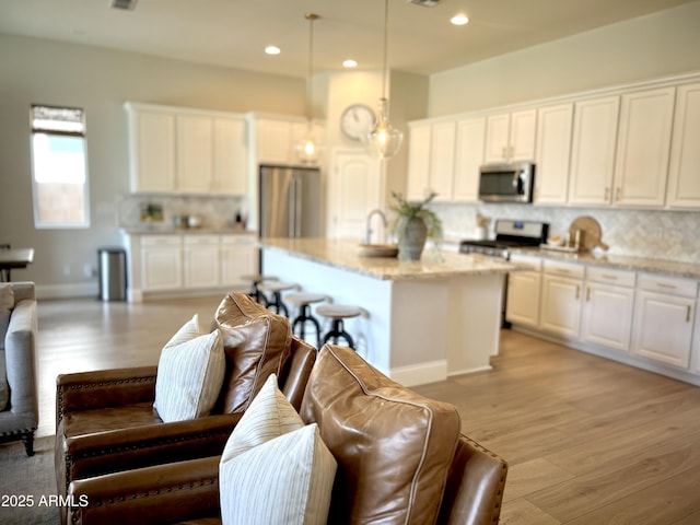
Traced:
[[135, 110], [132, 116], [131, 190], [175, 189], [175, 116]]

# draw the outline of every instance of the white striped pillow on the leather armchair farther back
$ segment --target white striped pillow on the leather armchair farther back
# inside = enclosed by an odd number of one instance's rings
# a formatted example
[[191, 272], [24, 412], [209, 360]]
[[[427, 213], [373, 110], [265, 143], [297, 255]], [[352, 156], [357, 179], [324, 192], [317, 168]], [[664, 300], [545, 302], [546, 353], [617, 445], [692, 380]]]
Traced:
[[161, 351], [154, 402], [161, 419], [185, 421], [209, 415], [219, 397], [225, 366], [220, 330], [202, 335], [195, 314]]

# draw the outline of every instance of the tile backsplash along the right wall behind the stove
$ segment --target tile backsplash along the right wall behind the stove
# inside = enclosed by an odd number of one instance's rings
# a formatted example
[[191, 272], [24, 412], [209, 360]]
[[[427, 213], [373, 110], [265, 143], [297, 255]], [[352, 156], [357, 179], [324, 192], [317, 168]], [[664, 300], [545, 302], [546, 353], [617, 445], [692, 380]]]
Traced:
[[432, 208], [443, 221], [446, 240], [474, 237], [477, 213], [490, 219], [490, 236], [497, 219], [544, 221], [549, 223], [550, 234], [563, 235], [574, 219], [590, 215], [600, 223], [602, 241], [610, 246], [611, 254], [700, 264], [698, 211], [455, 203], [435, 203]]

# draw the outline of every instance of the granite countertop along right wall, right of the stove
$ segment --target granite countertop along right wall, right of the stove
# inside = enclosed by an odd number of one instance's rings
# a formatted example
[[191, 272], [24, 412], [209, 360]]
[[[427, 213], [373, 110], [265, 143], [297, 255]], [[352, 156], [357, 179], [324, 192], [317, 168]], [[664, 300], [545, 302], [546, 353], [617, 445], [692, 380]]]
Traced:
[[630, 257], [626, 255], [606, 254], [605, 252], [598, 255], [590, 252], [572, 254], [567, 252], [556, 252], [553, 249], [513, 249], [513, 253], [533, 255], [545, 259], [617, 268], [620, 270], [649, 271], [652, 273], [664, 273], [673, 277], [700, 279], [700, 264], [692, 262], [680, 262], [676, 260], [646, 257]]

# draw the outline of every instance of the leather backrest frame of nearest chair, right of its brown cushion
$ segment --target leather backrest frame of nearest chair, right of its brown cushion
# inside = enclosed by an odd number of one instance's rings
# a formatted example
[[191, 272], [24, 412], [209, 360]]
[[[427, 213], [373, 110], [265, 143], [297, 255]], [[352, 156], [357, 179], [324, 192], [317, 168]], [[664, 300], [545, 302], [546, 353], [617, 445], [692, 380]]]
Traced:
[[498, 523], [508, 463], [466, 435], [459, 436], [440, 510], [440, 524]]

